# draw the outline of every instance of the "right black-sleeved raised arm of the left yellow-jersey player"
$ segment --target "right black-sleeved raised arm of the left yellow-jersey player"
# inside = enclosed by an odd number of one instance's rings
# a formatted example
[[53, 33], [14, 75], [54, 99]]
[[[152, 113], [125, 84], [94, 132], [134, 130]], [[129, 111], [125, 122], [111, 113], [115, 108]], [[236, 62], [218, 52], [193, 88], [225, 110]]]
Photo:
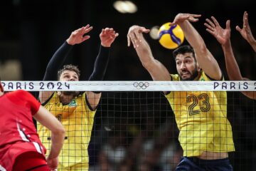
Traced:
[[[113, 28], [104, 28], [100, 33], [100, 51], [95, 60], [95, 65], [89, 81], [102, 81], [107, 71], [107, 66], [110, 61], [110, 46], [117, 38], [118, 33]], [[100, 102], [100, 92], [86, 92], [86, 97], [93, 110], [97, 108]]]

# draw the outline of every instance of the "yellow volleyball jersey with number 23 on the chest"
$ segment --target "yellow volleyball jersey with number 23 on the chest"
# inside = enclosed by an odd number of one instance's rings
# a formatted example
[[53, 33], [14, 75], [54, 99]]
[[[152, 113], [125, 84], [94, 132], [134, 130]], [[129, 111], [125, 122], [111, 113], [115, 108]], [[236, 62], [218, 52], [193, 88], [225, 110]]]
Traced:
[[[202, 71], [198, 81], [210, 81]], [[180, 81], [171, 74], [172, 81]], [[225, 91], [173, 91], [166, 95], [178, 126], [183, 156], [235, 151]]]

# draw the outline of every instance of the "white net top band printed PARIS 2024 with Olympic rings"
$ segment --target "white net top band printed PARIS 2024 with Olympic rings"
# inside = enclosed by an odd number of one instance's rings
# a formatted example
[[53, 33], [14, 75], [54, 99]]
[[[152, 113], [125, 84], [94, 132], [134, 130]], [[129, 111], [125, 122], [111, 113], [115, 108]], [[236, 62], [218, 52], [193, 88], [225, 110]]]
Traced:
[[256, 91], [256, 81], [1, 81], [5, 91]]

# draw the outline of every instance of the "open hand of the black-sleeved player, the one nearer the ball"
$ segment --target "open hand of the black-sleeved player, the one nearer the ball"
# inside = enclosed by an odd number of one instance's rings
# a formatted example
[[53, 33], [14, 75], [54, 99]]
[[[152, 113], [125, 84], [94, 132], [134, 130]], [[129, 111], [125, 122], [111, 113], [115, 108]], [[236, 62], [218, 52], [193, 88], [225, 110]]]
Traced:
[[113, 28], [103, 28], [100, 33], [101, 45], [109, 48], [119, 34]]

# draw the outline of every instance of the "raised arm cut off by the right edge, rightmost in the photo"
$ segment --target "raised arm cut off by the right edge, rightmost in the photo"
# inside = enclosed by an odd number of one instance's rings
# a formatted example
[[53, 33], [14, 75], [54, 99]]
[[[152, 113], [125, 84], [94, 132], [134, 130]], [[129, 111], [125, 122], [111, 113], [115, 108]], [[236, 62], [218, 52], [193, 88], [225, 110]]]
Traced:
[[245, 11], [242, 21], [243, 21], [242, 28], [240, 28], [239, 26], [236, 26], [235, 28], [237, 29], [237, 31], [240, 32], [242, 37], [245, 38], [245, 40], [248, 43], [250, 43], [250, 46], [252, 46], [253, 50], [256, 52], [256, 40], [252, 36], [252, 31], [250, 29], [250, 25], [248, 22], [247, 11]]

